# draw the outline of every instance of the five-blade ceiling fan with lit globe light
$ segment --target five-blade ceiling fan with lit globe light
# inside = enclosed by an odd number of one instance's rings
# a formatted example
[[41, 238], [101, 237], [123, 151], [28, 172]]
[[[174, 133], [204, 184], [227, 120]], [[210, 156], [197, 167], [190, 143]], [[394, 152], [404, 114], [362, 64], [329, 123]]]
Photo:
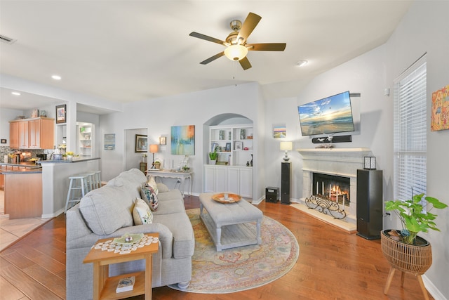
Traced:
[[286, 48], [286, 43], [269, 43], [269, 44], [247, 44], [246, 39], [248, 39], [251, 32], [259, 23], [260, 15], [255, 13], [248, 13], [246, 20], [243, 22], [240, 20], [232, 20], [230, 25], [233, 32], [231, 32], [226, 41], [221, 39], [215, 39], [214, 37], [208, 37], [207, 35], [191, 32], [189, 36], [197, 37], [199, 39], [206, 39], [206, 41], [212, 41], [217, 44], [221, 44], [226, 47], [225, 51], [215, 54], [210, 58], [203, 60], [201, 65], [206, 65], [217, 58], [226, 56], [230, 60], [238, 60], [243, 70], [247, 70], [251, 67], [250, 61], [246, 57], [248, 51], [284, 51]]

